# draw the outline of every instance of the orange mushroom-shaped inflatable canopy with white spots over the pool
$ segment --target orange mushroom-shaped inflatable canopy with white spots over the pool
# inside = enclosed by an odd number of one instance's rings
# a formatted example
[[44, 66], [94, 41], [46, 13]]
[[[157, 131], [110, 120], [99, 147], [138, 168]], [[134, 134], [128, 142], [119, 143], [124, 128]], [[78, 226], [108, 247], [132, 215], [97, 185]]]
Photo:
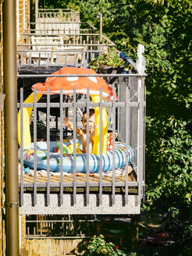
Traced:
[[[93, 75], [97, 74], [93, 69], [82, 69], [64, 66], [52, 75]], [[48, 77], [44, 83], [37, 83], [32, 86], [32, 90], [37, 88], [37, 93], [47, 94], [50, 88], [51, 94], [59, 94], [62, 88], [63, 94], [73, 94], [73, 88], [76, 87], [76, 93], [87, 94], [87, 88], [90, 88], [91, 95], [99, 95], [102, 88], [102, 98], [112, 101], [112, 88], [106, 84], [99, 76], [65, 76], [65, 77]], [[117, 96], [116, 96], [117, 99]]]

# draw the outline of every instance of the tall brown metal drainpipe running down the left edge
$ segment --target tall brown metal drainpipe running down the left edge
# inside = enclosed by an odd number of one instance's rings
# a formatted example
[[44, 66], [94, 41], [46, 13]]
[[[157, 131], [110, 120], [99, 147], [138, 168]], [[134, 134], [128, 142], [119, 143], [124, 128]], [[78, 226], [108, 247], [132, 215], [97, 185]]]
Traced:
[[3, 2], [5, 83], [5, 232], [6, 255], [19, 256], [19, 181], [16, 80], [16, 0]]

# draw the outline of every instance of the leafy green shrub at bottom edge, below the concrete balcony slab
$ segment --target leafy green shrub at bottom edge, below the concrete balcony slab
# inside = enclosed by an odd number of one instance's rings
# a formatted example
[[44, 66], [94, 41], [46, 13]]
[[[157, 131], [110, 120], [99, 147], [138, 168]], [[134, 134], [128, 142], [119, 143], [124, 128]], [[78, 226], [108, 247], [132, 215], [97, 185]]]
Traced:
[[[105, 256], [126, 256], [127, 254], [124, 253], [123, 251], [120, 251], [115, 244], [108, 243], [105, 241], [105, 237], [102, 235], [99, 236], [94, 236], [91, 240], [91, 243], [87, 247], [88, 249], [88, 254], [89, 256], [94, 256], [94, 255], [105, 255]], [[135, 255], [136, 254], [130, 254], [130, 255]]]

